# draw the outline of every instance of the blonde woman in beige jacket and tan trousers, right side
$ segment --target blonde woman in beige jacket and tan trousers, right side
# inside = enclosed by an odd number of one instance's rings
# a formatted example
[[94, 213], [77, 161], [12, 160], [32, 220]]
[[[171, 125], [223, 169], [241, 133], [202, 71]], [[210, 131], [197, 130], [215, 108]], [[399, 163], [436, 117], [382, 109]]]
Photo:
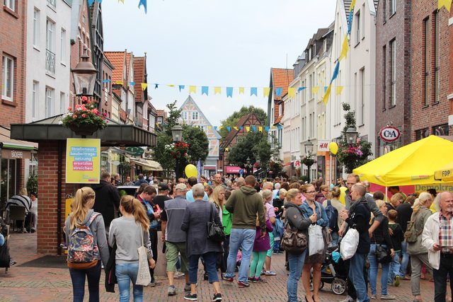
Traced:
[[[414, 296], [414, 302], [421, 302], [420, 295], [420, 274], [422, 264], [428, 269], [432, 276], [432, 267], [428, 260], [428, 250], [422, 245], [422, 233], [426, 221], [432, 215], [430, 206], [432, 204], [432, 196], [428, 192], [420, 193], [420, 196], [415, 199], [411, 222], [405, 233], [405, 238], [408, 243], [408, 253], [411, 255], [411, 289]], [[411, 236], [408, 236], [411, 233]]]

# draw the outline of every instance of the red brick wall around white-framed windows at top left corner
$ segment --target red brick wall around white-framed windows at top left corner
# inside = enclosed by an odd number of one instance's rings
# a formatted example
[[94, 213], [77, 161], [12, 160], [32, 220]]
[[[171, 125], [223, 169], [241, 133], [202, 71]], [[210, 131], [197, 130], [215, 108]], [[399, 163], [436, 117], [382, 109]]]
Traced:
[[[27, 1], [17, 1], [15, 11], [9, 10], [1, 2], [0, 9], [0, 54], [14, 59], [13, 102], [1, 100], [0, 124], [9, 127], [11, 123], [25, 122], [25, 42]], [[0, 70], [2, 70], [0, 59]], [[3, 83], [0, 73], [0, 83]], [[0, 97], [1, 98], [1, 97]]]

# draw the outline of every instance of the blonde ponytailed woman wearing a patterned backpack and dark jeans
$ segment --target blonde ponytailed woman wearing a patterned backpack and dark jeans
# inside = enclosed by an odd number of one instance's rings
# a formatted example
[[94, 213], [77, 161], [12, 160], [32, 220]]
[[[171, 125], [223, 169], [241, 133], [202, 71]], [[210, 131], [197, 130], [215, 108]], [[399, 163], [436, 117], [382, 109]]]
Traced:
[[[108, 245], [105, 236], [104, 219], [100, 213], [93, 211], [95, 192], [91, 187], [82, 187], [77, 190], [72, 202], [72, 212], [69, 214], [64, 230], [66, 230], [66, 242], [68, 244], [68, 267], [71, 274], [73, 301], [84, 301], [85, 278], [88, 279], [88, 291], [90, 301], [99, 301], [99, 279], [101, 278], [101, 261], [107, 265]], [[90, 263], [74, 263], [72, 247], [76, 244], [73, 232], [79, 226], [88, 227], [93, 234], [95, 261]], [[74, 239], [74, 243], [72, 242]], [[74, 253], [75, 253], [74, 246]], [[75, 256], [75, 255], [74, 255]]]

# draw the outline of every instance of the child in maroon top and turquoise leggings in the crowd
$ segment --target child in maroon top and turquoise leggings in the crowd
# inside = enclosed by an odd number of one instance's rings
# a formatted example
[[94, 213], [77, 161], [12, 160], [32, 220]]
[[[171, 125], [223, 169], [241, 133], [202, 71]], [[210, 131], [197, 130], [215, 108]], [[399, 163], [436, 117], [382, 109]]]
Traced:
[[263, 269], [266, 254], [270, 249], [269, 232], [272, 231], [272, 223], [270, 223], [269, 220], [266, 220], [266, 234], [263, 238], [261, 238], [260, 223], [258, 221], [258, 217], [256, 218], [256, 236], [255, 243], [253, 243], [253, 260], [250, 264], [250, 277], [248, 277], [248, 281], [265, 283], [265, 280], [261, 279], [260, 274]]

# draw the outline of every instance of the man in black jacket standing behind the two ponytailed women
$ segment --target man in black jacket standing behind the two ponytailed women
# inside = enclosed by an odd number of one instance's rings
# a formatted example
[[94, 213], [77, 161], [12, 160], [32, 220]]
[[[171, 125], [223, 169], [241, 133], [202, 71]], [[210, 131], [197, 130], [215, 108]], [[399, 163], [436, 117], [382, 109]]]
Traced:
[[115, 219], [115, 212], [120, 209], [120, 193], [118, 193], [116, 187], [110, 183], [110, 173], [107, 171], [103, 171], [101, 173], [101, 181], [91, 187], [93, 187], [93, 190], [96, 193], [93, 210], [102, 214], [105, 224], [105, 234], [108, 238], [110, 222]]

